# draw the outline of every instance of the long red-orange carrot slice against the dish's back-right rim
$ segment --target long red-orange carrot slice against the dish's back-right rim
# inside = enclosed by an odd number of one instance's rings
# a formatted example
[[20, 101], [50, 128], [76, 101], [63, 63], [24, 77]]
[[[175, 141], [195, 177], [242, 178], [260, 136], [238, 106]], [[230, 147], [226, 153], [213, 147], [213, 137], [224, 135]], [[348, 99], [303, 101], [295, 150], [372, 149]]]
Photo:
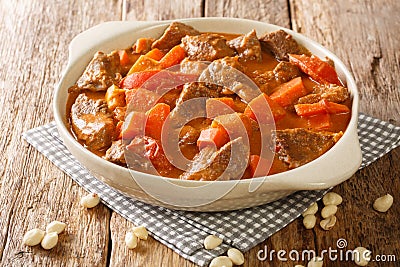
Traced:
[[289, 54], [289, 61], [319, 83], [342, 85], [335, 68], [314, 55], [309, 57], [306, 55]]

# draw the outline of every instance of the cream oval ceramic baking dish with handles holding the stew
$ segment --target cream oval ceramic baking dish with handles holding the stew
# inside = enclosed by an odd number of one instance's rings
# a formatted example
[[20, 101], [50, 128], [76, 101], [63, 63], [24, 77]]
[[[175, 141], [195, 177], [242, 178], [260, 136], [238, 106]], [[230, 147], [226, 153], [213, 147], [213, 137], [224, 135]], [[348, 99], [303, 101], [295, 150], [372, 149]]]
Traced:
[[[284, 29], [258, 21], [233, 18], [196, 18], [180, 20], [202, 32], [247, 33], [255, 29], [258, 36]], [[158, 38], [171, 21], [107, 22], [77, 35], [69, 46], [69, 61], [54, 94], [54, 117], [64, 144], [98, 179], [124, 194], [173, 209], [220, 211], [252, 207], [274, 201], [298, 190], [325, 189], [350, 178], [361, 163], [357, 136], [359, 97], [356, 84], [345, 65], [330, 51], [308, 38], [284, 29], [299, 43], [320, 58], [335, 62], [339, 77], [352, 95], [352, 116], [343, 137], [327, 153], [299, 168], [240, 181], [199, 182], [168, 179], [129, 171], [112, 164], [82, 147], [71, 135], [66, 121], [68, 88], [82, 74], [96, 51], [110, 52], [129, 47], [139, 37]]]

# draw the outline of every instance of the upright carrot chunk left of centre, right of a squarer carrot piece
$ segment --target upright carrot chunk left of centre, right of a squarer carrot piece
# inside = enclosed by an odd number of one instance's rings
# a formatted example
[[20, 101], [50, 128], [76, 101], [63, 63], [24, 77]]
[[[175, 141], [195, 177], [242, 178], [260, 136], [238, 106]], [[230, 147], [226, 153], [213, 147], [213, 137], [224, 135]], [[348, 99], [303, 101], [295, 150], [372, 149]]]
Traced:
[[161, 140], [162, 128], [170, 111], [171, 109], [169, 105], [165, 103], [158, 103], [146, 112], [147, 121], [145, 132], [147, 136], [150, 136], [156, 140]]

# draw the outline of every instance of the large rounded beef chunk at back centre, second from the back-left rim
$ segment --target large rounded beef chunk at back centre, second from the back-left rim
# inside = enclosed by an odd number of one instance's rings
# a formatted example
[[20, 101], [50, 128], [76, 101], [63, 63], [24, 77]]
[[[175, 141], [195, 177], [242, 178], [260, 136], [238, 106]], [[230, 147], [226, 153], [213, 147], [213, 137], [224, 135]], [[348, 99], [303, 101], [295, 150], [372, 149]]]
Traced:
[[190, 60], [213, 61], [235, 54], [224, 37], [213, 33], [186, 36], [182, 38], [182, 45]]

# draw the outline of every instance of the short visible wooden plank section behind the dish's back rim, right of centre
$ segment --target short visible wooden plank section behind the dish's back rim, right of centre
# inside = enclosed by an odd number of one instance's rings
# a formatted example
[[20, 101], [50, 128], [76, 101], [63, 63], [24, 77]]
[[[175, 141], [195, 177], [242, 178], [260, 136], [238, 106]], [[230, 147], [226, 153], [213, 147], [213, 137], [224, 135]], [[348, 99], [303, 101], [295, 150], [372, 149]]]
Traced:
[[205, 1], [206, 17], [234, 17], [263, 21], [290, 28], [286, 0]]

